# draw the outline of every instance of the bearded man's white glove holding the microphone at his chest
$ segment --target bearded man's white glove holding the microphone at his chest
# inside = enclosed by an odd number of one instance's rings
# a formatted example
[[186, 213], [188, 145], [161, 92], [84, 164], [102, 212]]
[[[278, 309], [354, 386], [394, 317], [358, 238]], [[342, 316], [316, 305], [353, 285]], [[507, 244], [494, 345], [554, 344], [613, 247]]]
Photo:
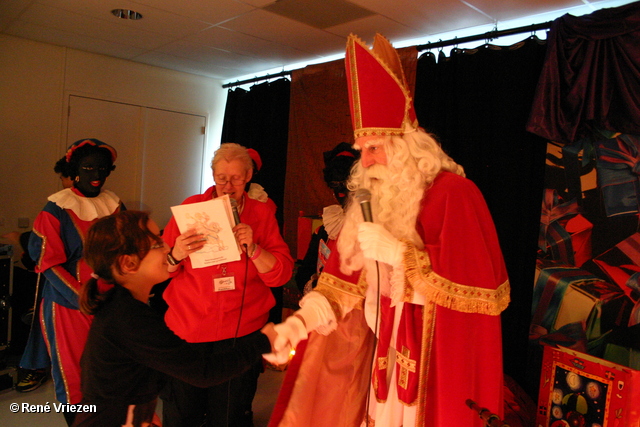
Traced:
[[393, 267], [402, 264], [406, 245], [386, 228], [373, 222], [358, 225], [358, 242], [365, 258], [382, 261]]

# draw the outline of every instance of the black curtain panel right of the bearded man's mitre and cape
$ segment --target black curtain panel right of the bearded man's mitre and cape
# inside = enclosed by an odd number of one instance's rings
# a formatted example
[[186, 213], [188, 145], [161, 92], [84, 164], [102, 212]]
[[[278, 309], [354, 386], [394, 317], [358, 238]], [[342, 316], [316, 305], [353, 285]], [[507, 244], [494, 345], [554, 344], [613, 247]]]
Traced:
[[502, 315], [505, 373], [523, 387], [546, 152], [546, 140], [526, 123], [545, 49], [530, 37], [509, 47], [454, 49], [449, 58], [427, 52], [415, 92], [420, 125], [465, 168], [493, 216], [511, 281]]

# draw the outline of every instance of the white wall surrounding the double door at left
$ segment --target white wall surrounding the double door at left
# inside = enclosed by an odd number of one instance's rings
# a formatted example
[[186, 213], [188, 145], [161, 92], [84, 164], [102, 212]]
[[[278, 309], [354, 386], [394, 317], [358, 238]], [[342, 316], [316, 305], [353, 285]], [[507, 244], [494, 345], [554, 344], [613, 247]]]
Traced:
[[[212, 184], [227, 96], [221, 81], [0, 35], [0, 234], [26, 231], [18, 218], [30, 228], [62, 188], [53, 166], [66, 148], [70, 95], [205, 116], [202, 188]], [[170, 159], [167, 173], [179, 178]]]

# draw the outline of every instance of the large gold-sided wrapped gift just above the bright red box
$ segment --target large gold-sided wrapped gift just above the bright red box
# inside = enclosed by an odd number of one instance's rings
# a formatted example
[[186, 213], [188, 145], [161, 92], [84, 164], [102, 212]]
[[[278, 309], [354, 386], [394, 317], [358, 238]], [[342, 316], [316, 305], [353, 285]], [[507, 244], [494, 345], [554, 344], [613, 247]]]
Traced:
[[596, 340], [626, 325], [631, 308], [618, 286], [577, 267], [537, 261], [531, 323], [540, 335], [580, 322], [587, 340]]

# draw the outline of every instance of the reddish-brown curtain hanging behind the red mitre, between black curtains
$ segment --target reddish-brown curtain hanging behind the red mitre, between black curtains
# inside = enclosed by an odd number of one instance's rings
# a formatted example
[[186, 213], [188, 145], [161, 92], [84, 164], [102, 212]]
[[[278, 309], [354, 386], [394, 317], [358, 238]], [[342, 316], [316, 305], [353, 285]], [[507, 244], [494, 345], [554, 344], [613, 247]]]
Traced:
[[[399, 49], [407, 82], [415, 86], [415, 47]], [[300, 212], [320, 215], [337, 203], [322, 178], [322, 153], [340, 142], [353, 143], [344, 60], [310, 65], [291, 74], [289, 144], [284, 200], [284, 238], [297, 253]]]

